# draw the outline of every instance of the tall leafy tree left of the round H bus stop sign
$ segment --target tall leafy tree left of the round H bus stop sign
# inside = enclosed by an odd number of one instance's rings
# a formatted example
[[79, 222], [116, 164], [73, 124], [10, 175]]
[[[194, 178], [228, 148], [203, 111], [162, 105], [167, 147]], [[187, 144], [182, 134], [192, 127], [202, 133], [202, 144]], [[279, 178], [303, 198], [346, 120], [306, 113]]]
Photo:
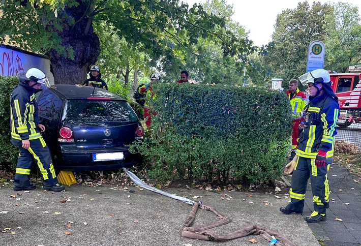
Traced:
[[[272, 68], [272, 78], [283, 78], [283, 87], [288, 87], [291, 79], [306, 72], [308, 46], [312, 41], [326, 39], [327, 15], [332, 14], [329, 4], [314, 2], [310, 7], [305, 1], [296, 9], [287, 9], [277, 15], [272, 42], [264, 57]], [[327, 49], [327, 48], [326, 48]]]

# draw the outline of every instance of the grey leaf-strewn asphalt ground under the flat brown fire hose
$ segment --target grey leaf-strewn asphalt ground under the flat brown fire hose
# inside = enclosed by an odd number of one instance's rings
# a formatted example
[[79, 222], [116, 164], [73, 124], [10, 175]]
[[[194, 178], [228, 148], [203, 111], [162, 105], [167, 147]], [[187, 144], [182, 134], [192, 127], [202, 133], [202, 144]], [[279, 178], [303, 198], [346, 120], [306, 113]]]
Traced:
[[[288, 194], [210, 192], [167, 189], [171, 194], [201, 200], [231, 223], [210, 229], [225, 234], [249, 225], [274, 230], [296, 245], [318, 245], [299, 214], [279, 211]], [[183, 227], [192, 206], [141, 188], [75, 184], [64, 192], [14, 192], [0, 188], [0, 245], [257, 245], [269, 242], [258, 235], [226, 242], [184, 238]], [[216, 222], [213, 212], [199, 210], [192, 226]]]

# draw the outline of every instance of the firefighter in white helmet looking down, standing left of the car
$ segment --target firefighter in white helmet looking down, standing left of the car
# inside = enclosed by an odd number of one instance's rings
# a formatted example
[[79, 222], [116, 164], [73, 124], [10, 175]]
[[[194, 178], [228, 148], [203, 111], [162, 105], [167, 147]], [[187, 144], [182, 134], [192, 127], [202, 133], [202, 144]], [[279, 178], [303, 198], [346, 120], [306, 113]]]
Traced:
[[18, 75], [19, 84], [10, 97], [11, 143], [18, 146], [20, 154], [16, 165], [14, 191], [34, 190], [30, 184], [30, 169], [33, 159], [38, 164], [43, 177], [43, 189], [63, 191], [64, 186], [57, 182], [51, 155], [40, 132], [45, 131], [38, 117], [35, 91], [49, 87], [45, 74], [37, 68]]

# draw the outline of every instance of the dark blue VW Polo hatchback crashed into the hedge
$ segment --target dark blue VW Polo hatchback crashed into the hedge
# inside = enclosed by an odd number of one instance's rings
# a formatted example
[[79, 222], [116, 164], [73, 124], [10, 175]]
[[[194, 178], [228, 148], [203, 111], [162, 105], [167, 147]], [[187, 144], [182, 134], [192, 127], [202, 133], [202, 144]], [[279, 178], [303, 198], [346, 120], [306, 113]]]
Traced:
[[101, 88], [55, 85], [38, 95], [43, 134], [57, 170], [96, 171], [138, 164], [128, 145], [143, 140], [129, 103]]

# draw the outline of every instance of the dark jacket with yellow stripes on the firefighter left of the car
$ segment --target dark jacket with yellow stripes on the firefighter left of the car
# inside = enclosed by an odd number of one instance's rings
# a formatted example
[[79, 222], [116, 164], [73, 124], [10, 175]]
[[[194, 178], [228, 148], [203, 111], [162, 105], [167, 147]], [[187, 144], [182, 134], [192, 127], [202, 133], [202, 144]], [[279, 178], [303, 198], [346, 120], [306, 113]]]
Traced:
[[38, 139], [40, 123], [35, 91], [27, 83], [19, 82], [10, 97], [11, 142], [19, 145], [25, 139]]

